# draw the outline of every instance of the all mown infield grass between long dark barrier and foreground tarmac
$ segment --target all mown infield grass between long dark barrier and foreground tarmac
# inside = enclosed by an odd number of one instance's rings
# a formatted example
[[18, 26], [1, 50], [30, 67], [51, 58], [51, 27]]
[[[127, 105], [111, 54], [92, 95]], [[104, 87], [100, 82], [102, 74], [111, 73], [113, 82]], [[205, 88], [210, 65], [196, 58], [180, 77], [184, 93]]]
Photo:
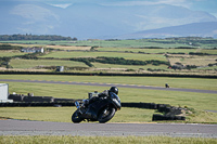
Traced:
[[[217, 81], [215, 79], [200, 78], [157, 78], [157, 77], [99, 77], [99, 76], [34, 76], [34, 75], [0, 75], [0, 79], [21, 79], [21, 80], [48, 80], [48, 81], [75, 81], [75, 82], [99, 82], [99, 83], [122, 83], [164, 87], [168, 82], [173, 88], [216, 90]], [[18, 94], [34, 93], [37, 96], [53, 96], [64, 99], [87, 99], [88, 92], [102, 92], [107, 87], [93, 86], [71, 86], [52, 83], [30, 83], [30, 82], [7, 82], [9, 92]], [[195, 108], [196, 114], [189, 116], [186, 122], [216, 122], [217, 114], [203, 110], [217, 110], [216, 94], [156, 91], [142, 89], [119, 88], [119, 97], [122, 102], [143, 102], [156, 104], [170, 104], [173, 106]], [[16, 113], [18, 109], [20, 113]], [[42, 121], [62, 121], [71, 122], [71, 115], [75, 107], [48, 107], [48, 108], [0, 108], [0, 117], [42, 120]], [[110, 122], [150, 122], [152, 120], [152, 109], [125, 108], [117, 112]], [[33, 115], [29, 115], [33, 114]], [[61, 117], [56, 117], [60, 114]]]

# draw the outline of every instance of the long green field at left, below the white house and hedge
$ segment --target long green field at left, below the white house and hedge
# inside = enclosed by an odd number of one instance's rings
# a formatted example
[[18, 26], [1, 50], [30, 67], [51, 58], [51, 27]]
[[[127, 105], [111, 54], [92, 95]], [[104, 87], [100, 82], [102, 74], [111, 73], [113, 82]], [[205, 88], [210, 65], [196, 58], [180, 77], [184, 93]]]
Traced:
[[88, 67], [81, 62], [58, 60], [11, 60], [10, 65], [13, 68], [34, 68], [37, 66]]

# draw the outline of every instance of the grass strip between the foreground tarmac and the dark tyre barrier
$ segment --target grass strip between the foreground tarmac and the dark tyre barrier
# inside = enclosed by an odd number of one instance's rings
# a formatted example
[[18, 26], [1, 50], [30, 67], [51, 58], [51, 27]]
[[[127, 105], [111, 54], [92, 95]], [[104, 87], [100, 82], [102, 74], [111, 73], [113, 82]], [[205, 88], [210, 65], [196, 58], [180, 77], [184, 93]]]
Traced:
[[[72, 122], [71, 117], [75, 109], [75, 107], [1, 107], [0, 119]], [[154, 109], [123, 107], [120, 110], [116, 112], [113, 119], [108, 122], [152, 122], [152, 116], [154, 113]], [[194, 110], [194, 113], [187, 115], [186, 121], [173, 122], [217, 123], [216, 113]]]

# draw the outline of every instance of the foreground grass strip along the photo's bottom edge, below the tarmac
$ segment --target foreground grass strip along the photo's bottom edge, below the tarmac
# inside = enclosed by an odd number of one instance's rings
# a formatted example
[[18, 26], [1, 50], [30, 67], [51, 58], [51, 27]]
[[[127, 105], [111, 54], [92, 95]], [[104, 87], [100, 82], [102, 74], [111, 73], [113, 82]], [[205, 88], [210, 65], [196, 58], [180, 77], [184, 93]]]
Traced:
[[216, 139], [169, 136], [0, 136], [0, 144], [216, 144]]

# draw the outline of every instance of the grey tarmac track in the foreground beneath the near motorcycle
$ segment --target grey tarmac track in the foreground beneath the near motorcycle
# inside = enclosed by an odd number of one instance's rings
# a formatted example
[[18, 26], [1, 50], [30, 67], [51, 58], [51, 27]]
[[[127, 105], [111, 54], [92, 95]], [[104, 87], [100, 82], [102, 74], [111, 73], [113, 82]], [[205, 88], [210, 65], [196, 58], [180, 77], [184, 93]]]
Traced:
[[69, 123], [0, 120], [0, 135], [191, 136], [217, 139], [217, 125], [190, 123]]

